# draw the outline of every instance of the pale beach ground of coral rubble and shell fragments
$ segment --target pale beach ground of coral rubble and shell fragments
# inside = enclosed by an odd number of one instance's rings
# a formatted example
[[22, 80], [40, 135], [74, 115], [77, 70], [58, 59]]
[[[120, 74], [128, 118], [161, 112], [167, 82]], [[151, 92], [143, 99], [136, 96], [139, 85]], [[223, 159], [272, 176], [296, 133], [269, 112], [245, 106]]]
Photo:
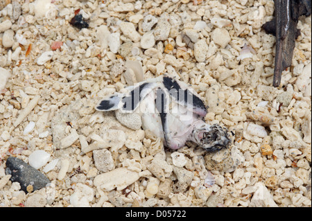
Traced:
[[[311, 16], [275, 88], [261, 29], [273, 12], [270, 0], [1, 0], [0, 206], [311, 206]], [[137, 82], [130, 60], [145, 79], [191, 85], [231, 147], [168, 150], [97, 112]], [[9, 156], [51, 183], [21, 191]]]

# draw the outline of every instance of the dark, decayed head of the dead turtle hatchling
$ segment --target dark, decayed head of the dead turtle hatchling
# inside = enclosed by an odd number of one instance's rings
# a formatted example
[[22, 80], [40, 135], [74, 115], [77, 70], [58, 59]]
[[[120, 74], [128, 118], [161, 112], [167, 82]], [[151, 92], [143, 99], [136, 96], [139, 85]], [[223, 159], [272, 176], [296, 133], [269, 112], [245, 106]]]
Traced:
[[204, 123], [193, 130], [193, 141], [209, 152], [228, 148], [231, 144], [230, 135], [225, 127], [218, 124]]

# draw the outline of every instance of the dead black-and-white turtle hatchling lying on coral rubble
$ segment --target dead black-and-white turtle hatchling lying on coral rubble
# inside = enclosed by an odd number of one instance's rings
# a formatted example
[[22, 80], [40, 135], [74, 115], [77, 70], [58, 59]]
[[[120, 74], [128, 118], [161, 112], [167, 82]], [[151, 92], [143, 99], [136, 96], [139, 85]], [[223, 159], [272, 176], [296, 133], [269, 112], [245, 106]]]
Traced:
[[126, 127], [150, 130], [173, 150], [193, 141], [212, 152], [227, 148], [226, 128], [205, 123], [207, 109], [196, 91], [168, 76], [159, 76], [121, 89], [96, 105], [102, 112], [116, 111], [116, 118]]

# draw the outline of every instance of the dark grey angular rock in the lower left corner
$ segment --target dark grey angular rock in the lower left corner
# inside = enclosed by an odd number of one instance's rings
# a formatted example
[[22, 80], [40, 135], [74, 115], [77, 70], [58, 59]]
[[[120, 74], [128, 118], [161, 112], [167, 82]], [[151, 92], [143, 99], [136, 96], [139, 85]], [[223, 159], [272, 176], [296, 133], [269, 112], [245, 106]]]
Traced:
[[21, 190], [25, 193], [28, 193], [28, 185], [33, 186], [33, 191], [37, 191], [50, 183], [45, 175], [16, 157], [9, 157], [6, 160], [6, 174], [12, 175], [10, 181], [19, 182]]

